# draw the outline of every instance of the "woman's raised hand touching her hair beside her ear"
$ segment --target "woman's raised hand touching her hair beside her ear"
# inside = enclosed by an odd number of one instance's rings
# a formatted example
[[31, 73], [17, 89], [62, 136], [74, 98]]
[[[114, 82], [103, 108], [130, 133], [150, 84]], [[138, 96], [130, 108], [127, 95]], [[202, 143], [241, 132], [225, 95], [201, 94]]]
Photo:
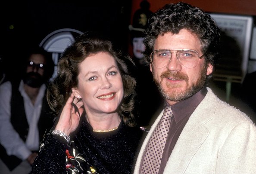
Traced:
[[79, 125], [81, 114], [84, 111], [83, 102], [74, 96], [73, 93], [69, 96], [61, 114], [59, 121], [55, 127], [56, 130], [62, 131], [69, 135]]

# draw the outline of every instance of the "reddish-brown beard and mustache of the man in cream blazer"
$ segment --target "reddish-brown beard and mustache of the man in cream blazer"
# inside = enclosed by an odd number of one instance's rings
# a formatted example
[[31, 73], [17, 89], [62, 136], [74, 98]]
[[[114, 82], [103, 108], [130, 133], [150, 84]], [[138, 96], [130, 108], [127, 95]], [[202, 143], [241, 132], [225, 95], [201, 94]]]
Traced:
[[[184, 80], [188, 83], [188, 76], [184, 73], [181, 72], [172, 72], [172, 71], [165, 71], [161, 74], [161, 82], [157, 82], [156, 81], [156, 77], [153, 76], [154, 82], [156, 83], [156, 86], [159, 89], [159, 92], [163, 95], [164, 98], [170, 100], [170, 101], [182, 101], [185, 100], [187, 98], [190, 98], [191, 96], [195, 95], [198, 91], [200, 91], [200, 89], [203, 88], [203, 86], [206, 84], [206, 72], [207, 72], [207, 67], [208, 64], [204, 64], [202, 70], [200, 70], [200, 75], [199, 78], [197, 80], [197, 82], [194, 82], [192, 85], [187, 85], [186, 89], [184, 91], [181, 91], [179, 88], [181, 87], [181, 85], [179, 84], [169, 84], [166, 83], [165, 85], [167, 86], [168, 89], [164, 89], [161, 86], [162, 80], [164, 78], [168, 78], [168, 77], [172, 77], [174, 79], [178, 79], [178, 80]], [[152, 69], [153, 70], [153, 69]], [[153, 71], [154, 74], [154, 71]], [[175, 90], [175, 88], [177, 90]], [[169, 89], [172, 89], [169, 91]]]

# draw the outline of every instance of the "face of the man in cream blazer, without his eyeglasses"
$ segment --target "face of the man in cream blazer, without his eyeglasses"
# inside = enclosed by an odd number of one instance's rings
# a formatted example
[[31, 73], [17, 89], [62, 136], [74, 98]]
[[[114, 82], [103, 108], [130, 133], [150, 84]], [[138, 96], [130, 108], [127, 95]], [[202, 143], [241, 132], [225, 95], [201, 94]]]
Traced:
[[[156, 49], [193, 49], [203, 55], [197, 35], [182, 29], [178, 34], [166, 33], [156, 39]], [[194, 68], [184, 67], [172, 51], [171, 61], [165, 67], [157, 68], [150, 64], [154, 81], [166, 101], [172, 105], [197, 93], [206, 82], [206, 75], [212, 73], [212, 65], [206, 64], [204, 58], [199, 59]]]

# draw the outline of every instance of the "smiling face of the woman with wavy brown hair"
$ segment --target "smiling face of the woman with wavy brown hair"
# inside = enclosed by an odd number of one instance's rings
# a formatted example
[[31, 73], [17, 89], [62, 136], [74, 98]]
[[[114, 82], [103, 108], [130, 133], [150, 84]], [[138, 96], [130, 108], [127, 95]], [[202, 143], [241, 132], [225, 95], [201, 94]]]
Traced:
[[86, 113], [114, 113], [123, 97], [122, 77], [115, 59], [108, 52], [91, 54], [79, 65], [78, 87]]

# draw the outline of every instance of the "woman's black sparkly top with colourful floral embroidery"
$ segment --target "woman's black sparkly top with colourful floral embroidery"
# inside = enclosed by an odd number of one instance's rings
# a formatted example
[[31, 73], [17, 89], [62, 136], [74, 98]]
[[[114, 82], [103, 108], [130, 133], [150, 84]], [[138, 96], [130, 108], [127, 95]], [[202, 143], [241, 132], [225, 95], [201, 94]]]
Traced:
[[69, 145], [48, 134], [31, 174], [131, 174], [143, 132], [121, 122], [114, 131], [98, 133], [83, 121]]

